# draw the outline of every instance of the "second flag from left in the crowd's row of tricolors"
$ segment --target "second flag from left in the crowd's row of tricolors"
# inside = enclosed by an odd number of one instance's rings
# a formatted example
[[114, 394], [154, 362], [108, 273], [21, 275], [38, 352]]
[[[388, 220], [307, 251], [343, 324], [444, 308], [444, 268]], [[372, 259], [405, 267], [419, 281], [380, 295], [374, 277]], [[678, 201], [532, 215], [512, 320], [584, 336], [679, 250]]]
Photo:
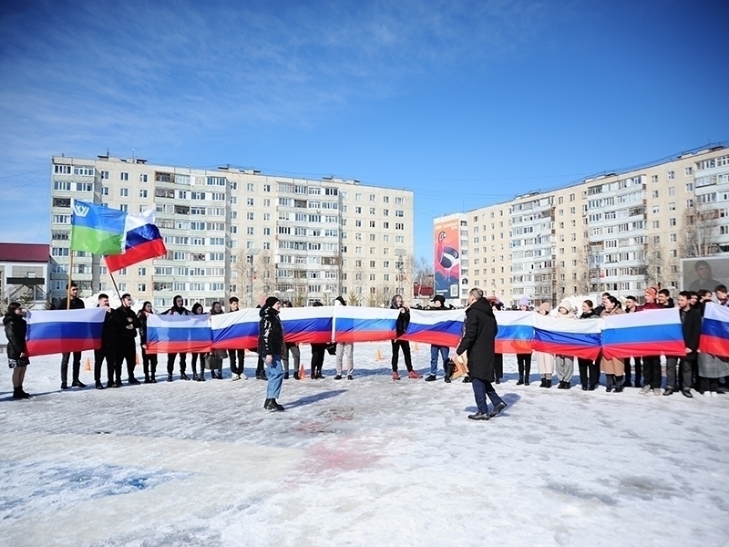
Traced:
[[147, 353], [207, 353], [212, 331], [207, 314], [149, 315]]

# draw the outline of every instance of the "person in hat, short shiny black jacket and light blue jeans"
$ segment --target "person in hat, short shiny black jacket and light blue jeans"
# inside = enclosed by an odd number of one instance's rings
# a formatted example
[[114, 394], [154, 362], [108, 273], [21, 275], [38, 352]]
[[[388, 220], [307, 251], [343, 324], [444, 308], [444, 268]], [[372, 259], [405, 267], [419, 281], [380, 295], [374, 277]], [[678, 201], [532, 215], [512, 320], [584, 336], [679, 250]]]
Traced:
[[262, 356], [263, 363], [268, 368], [266, 385], [266, 402], [263, 408], [272, 412], [281, 412], [283, 407], [276, 402], [281, 395], [283, 385], [283, 325], [279, 317], [281, 301], [275, 296], [266, 298], [258, 315], [261, 321], [258, 324], [258, 355]]

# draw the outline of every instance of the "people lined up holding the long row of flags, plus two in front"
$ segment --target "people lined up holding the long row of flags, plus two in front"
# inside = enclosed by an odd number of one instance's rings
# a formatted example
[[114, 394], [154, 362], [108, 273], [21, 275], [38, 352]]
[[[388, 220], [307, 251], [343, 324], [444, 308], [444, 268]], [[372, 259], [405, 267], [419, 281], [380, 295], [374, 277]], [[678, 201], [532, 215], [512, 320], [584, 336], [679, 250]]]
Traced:
[[[719, 304], [729, 305], [727, 290], [724, 285], [714, 287]], [[84, 302], [77, 297], [77, 286], [71, 284], [69, 289], [70, 299], [63, 299], [58, 304], [58, 309], [82, 309]], [[620, 393], [623, 387], [639, 387], [642, 394], [653, 393], [655, 395], [670, 396], [680, 391], [685, 397], [693, 397], [692, 388], [699, 393], [708, 396], [716, 395], [719, 389], [719, 379], [729, 380], [729, 359], [720, 356], [711, 356], [698, 351], [699, 335], [701, 333], [701, 321], [703, 307], [706, 302], [711, 301], [713, 294], [707, 289], [698, 292], [683, 291], [677, 297], [677, 306], [681, 315], [683, 338], [685, 343], [685, 355], [665, 356], [666, 360], [666, 386], [662, 390], [662, 366], [661, 356], [637, 356], [631, 359], [608, 359], [600, 356], [596, 360], [578, 357], [578, 368], [581, 388], [585, 391], [593, 391], [600, 383], [601, 374], [605, 375], [606, 391]], [[506, 403], [501, 400], [492, 387], [492, 382], [500, 383], [503, 378], [503, 356], [493, 349], [494, 339], [497, 333], [496, 319], [493, 309], [501, 309], [500, 304], [493, 297], [486, 298], [479, 289], [473, 289], [469, 293], [469, 306], [467, 319], [464, 323], [464, 333], [456, 354], [461, 355], [469, 351], [468, 368], [469, 374], [464, 382], [472, 382], [474, 394], [477, 400], [477, 414], [474, 419], [488, 419], [498, 414]], [[136, 338], [139, 332], [139, 345], [145, 383], [157, 382], [158, 356], [147, 351], [147, 318], [153, 314], [152, 305], [145, 302], [138, 314], [131, 309], [131, 296], [123, 294], [121, 305], [116, 309], [109, 307], [108, 295], [98, 295], [98, 307], [105, 308], [107, 315], [103, 325], [101, 347], [94, 352], [94, 380], [97, 389], [104, 389], [101, 381], [101, 370], [104, 362], [107, 364], [106, 387], [121, 387], [122, 366], [126, 362], [128, 384], [139, 384], [135, 377], [137, 349]], [[344, 298], [339, 296], [336, 305], [346, 305]], [[314, 303], [313, 305], [322, 305]], [[542, 303], [534, 310], [540, 315], [554, 315], [562, 318], [575, 320], [591, 320], [608, 315], [620, 315], [625, 313], [636, 313], [643, 310], [670, 308], [675, 304], [671, 294], [666, 289], [649, 287], [644, 294], [644, 304], [639, 305], [633, 296], [628, 296], [624, 304], [613, 295], [604, 293], [601, 296], [601, 303], [595, 306], [590, 300], [581, 303], [581, 313], [578, 315], [569, 300], [560, 303], [556, 310], [552, 310], [549, 303]], [[231, 379], [247, 379], [244, 374], [243, 363], [245, 350], [258, 353], [256, 366], [256, 378], [267, 380], [265, 408], [270, 410], [282, 410], [281, 405], [275, 402], [279, 397], [282, 380], [290, 377], [290, 359], [293, 357], [293, 377], [304, 379], [305, 373], [301, 366], [301, 352], [298, 344], [283, 342], [281, 321], [278, 312], [281, 307], [291, 307], [290, 302], [281, 302], [275, 297], [269, 297], [260, 310], [260, 335], [258, 347], [239, 348], [231, 350], [216, 349], [208, 353], [191, 354], [190, 365], [192, 377], [187, 375], [187, 354], [169, 353], [167, 356], [167, 381], [174, 379], [175, 361], [179, 360], [181, 380], [205, 381], [205, 370], [210, 370], [210, 378], [222, 379], [223, 360], [230, 358]], [[391, 342], [392, 345], [392, 377], [399, 380], [398, 361], [399, 353], [402, 351], [405, 359], [407, 376], [409, 378], [421, 378], [422, 376], [413, 368], [410, 344], [406, 340], [399, 339], [407, 331], [410, 321], [409, 309], [404, 304], [402, 295], [395, 294], [391, 301], [391, 308], [399, 310], [396, 321], [396, 335], [398, 339]], [[436, 295], [427, 306], [428, 310], [440, 311], [449, 309], [446, 306], [445, 298]], [[452, 309], [452, 307], [450, 308]], [[519, 309], [522, 311], [532, 310], [527, 298], [519, 302]], [[239, 301], [236, 297], [229, 300], [229, 311], [239, 310]], [[173, 299], [173, 305], [164, 315], [200, 315], [204, 310], [201, 304], [193, 304], [191, 310], [183, 305], [183, 299], [177, 295]], [[222, 314], [222, 305], [219, 302], [212, 304], [210, 315]], [[5, 333], [8, 338], [8, 363], [13, 368], [13, 387], [15, 398], [30, 397], [23, 390], [23, 379], [25, 377], [28, 357], [26, 351], [26, 322], [23, 319], [24, 312], [20, 304], [10, 304], [4, 317]], [[493, 323], [493, 325], [491, 325]], [[279, 339], [281, 338], [281, 339]], [[347, 379], [354, 379], [354, 345], [352, 343], [337, 344], [312, 344], [311, 374], [312, 379], [322, 379], [323, 360], [327, 351], [336, 356], [336, 376], [334, 379], [342, 379], [344, 373]], [[552, 386], [552, 377], [559, 380], [558, 389], [570, 389], [572, 377], [574, 376], [574, 356], [552, 355], [545, 352], [534, 351], [533, 358], [537, 362], [539, 387], [549, 388]], [[529, 386], [532, 353], [517, 354], [519, 379], [517, 385]], [[436, 380], [438, 371], [438, 360], [443, 364], [445, 381], [451, 381], [453, 362], [448, 358], [449, 348], [447, 346], [431, 346], [430, 371], [426, 376], [427, 382]], [[346, 356], [346, 358], [344, 358]], [[73, 360], [71, 360], [73, 357]], [[179, 359], [178, 359], [179, 357]], [[71, 383], [68, 383], [68, 363], [72, 363]], [[68, 387], [86, 387], [79, 379], [81, 365], [81, 353], [63, 354], [61, 358], [61, 389]], [[344, 365], [346, 369], [344, 369]], [[631, 374], [632, 373], [632, 374]], [[490, 414], [485, 406], [485, 397], [491, 400], [494, 411]], [[272, 402], [273, 401], [273, 402]]]

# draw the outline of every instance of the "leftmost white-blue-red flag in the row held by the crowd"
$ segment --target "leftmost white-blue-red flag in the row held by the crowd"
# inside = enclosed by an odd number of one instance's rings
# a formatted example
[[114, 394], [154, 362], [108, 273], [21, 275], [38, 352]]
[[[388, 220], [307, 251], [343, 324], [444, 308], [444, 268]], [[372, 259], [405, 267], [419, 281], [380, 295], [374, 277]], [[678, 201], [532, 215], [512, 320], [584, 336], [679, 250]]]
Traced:
[[28, 312], [28, 356], [47, 356], [101, 347], [105, 308]]

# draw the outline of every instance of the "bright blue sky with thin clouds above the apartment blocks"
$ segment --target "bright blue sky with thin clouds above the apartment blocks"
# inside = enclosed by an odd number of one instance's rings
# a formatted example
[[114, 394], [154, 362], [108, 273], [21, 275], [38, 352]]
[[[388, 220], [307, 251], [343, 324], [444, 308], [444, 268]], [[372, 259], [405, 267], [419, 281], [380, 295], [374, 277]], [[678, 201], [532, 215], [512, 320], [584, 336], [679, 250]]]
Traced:
[[47, 242], [49, 158], [105, 153], [416, 193], [432, 221], [729, 139], [729, 5], [0, 6], [0, 240]]

